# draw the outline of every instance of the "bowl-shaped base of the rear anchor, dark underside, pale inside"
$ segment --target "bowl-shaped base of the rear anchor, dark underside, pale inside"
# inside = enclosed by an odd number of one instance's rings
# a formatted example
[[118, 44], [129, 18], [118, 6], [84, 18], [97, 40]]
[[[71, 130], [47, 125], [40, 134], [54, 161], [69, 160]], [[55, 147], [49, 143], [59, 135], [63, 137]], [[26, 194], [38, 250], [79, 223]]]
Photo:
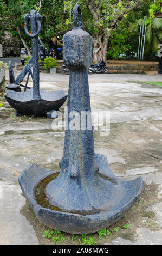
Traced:
[[41, 99], [33, 99], [33, 88], [26, 92], [6, 90], [5, 99], [9, 105], [23, 114], [42, 115], [51, 110], [58, 110], [67, 99], [63, 90], [49, 92], [40, 90]]

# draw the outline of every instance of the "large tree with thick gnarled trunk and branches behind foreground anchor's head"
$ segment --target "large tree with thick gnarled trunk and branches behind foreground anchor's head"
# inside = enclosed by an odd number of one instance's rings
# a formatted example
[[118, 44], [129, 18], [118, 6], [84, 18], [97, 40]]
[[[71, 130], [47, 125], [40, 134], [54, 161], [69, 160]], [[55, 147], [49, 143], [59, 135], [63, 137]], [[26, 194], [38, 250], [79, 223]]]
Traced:
[[107, 45], [114, 29], [122, 19], [146, 0], [81, 0], [64, 1], [69, 13], [67, 26], [72, 22], [72, 11], [76, 3], [81, 5], [83, 27], [93, 38], [93, 63], [106, 60]]

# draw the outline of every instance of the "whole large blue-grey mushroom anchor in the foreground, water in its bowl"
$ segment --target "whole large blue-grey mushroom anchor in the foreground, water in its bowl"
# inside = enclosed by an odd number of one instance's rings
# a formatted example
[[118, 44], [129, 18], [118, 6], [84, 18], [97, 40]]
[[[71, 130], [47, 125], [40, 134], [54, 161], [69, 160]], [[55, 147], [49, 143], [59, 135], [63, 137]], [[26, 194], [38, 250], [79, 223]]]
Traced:
[[[77, 27], [77, 11], [79, 27]], [[81, 29], [75, 5], [74, 27], [63, 36], [63, 58], [69, 68], [68, 117], [60, 172], [31, 164], [19, 177], [22, 191], [38, 220], [71, 234], [93, 233], [118, 221], [142, 190], [142, 178], [122, 181], [106, 156], [95, 154], [93, 130], [69, 128], [71, 113], [90, 112], [88, 68], [92, 38]], [[44, 199], [46, 198], [46, 200]]]

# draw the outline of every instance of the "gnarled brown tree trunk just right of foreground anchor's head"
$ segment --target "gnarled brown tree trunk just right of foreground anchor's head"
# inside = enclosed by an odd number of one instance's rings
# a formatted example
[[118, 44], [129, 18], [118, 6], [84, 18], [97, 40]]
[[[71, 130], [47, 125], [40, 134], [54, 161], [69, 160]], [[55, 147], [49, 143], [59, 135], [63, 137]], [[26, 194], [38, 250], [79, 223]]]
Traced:
[[99, 63], [100, 60], [106, 62], [108, 38], [107, 36], [104, 37], [105, 38], [103, 40], [101, 40], [100, 37], [97, 39], [93, 38], [93, 64]]

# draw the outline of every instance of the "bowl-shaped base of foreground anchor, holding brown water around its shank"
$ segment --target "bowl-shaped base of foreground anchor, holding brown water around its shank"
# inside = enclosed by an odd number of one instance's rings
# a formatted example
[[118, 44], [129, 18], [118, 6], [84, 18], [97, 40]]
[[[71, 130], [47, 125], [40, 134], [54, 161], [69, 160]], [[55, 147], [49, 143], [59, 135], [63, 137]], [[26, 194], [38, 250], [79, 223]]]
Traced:
[[[107, 198], [107, 202], [104, 205], [104, 209], [95, 209], [96, 202], [91, 200], [91, 203], [94, 203], [94, 208], [89, 212], [75, 212], [75, 208], [74, 211], [69, 212], [59, 209], [55, 205], [51, 205], [48, 202], [48, 198], [44, 200], [45, 203], [39, 201], [38, 194], [44, 193], [45, 195], [46, 193], [44, 191], [39, 192], [39, 190], [36, 192], [38, 184], [43, 184], [44, 180], [49, 182], [51, 175], [55, 176], [52, 180], [53, 182], [60, 172], [51, 172], [37, 166], [37, 164], [30, 164], [27, 169], [23, 170], [18, 177], [18, 181], [38, 220], [44, 225], [70, 234], [94, 233], [118, 221], [135, 204], [142, 191], [142, 178], [122, 181], [113, 174], [106, 156], [95, 154], [95, 157], [99, 165], [99, 173], [97, 175], [100, 176], [100, 182], [98, 187], [102, 191], [101, 184], [107, 186], [107, 193], [103, 195], [103, 199]], [[47, 185], [48, 183], [44, 190]], [[96, 187], [93, 189], [96, 190]], [[93, 191], [91, 192], [93, 194]], [[55, 198], [55, 194], [53, 197]], [[75, 198], [71, 198], [71, 200], [75, 205]], [[83, 201], [82, 198], [80, 200]]]

